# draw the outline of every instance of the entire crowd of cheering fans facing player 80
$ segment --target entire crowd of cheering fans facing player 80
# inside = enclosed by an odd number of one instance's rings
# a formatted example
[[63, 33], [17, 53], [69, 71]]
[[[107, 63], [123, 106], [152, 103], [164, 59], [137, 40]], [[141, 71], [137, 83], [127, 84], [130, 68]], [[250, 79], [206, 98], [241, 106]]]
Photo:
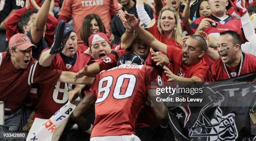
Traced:
[[[256, 71], [256, 0], [0, 0], [0, 15], [6, 131], [28, 131], [35, 118], [49, 119], [68, 100], [84, 97], [90, 85], [82, 82], [92, 83], [84, 75], [116, 67], [126, 52], [143, 58], [162, 81], [215, 82]], [[61, 20], [72, 32], [62, 52], [50, 54]], [[36, 47], [18, 47], [19, 37]], [[64, 72], [77, 73], [80, 84], [68, 84], [75, 74]], [[29, 85], [13, 84], [27, 77]], [[148, 121], [137, 125], [157, 126]]]

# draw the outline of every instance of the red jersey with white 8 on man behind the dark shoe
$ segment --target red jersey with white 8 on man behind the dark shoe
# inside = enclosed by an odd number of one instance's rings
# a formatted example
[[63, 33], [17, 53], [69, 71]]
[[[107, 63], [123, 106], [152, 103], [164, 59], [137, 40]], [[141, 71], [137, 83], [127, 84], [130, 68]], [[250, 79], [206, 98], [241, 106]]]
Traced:
[[[48, 48], [49, 49], [49, 48]], [[48, 50], [45, 49], [44, 51]], [[44, 52], [43, 51], [43, 52]], [[85, 65], [89, 64], [91, 57], [88, 54], [77, 51], [74, 56], [74, 64], [66, 64], [60, 54], [52, 60], [52, 66], [56, 69], [69, 72], [78, 72]], [[41, 119], [49, 119], [58, 109], [68, 101], [68, 92], [73, 90], [74, 85], [57, 82], [56, 85], [40, 84], [40, 98], [35, 107], [35, 116]]]

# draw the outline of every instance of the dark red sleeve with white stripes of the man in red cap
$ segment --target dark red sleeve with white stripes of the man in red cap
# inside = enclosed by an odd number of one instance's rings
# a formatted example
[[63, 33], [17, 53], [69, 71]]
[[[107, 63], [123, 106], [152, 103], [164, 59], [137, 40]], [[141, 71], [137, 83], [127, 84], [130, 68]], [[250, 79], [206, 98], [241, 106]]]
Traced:
[[51, 69], [50, 67], [42, 67], [38, 61], [35, 61], [30, 68], [28, 76], [28, 84], [33, 83], [48, 83], [57, 84], [61, 75], [61, 70]]

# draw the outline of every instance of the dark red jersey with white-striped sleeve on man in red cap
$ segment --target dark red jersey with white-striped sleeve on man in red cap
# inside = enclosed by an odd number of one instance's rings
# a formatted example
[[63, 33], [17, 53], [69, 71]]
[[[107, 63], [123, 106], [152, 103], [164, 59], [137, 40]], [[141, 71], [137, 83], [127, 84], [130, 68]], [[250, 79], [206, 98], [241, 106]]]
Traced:
[[0, 53], [0, 100], [5, 101], [5, 113], [15, 111], [23, 104], [32, 83], [56, 84], [61, 72], [42, 67], [33, 58], [26, 69], [15, 69], [10, 55]]

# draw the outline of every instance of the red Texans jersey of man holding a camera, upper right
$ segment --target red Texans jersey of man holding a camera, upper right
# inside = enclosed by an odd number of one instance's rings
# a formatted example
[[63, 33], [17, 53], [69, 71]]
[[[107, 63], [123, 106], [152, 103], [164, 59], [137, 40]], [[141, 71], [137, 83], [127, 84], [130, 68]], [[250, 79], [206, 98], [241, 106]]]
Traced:
[[206, 17], [199, 17], [196, 20], [194, 20], [190, 26], [190, 34], [194, 34], [197, 30], [197, 27], [200, 25], [200, 22], [204, 18], [212, 19], [213, 21], [217, 22], [217, 27], [208, 27], [205, 28], [203, 31], [207, 33], [209, 36], [219, 37], [219, 33], [227, 30], [232, 30], [237, 32], [241, 37], [241, 43], [245, 43], [245, 37], [243, 35], [243, 32], [241, 30], [242, 24], [241, 20], [235, 20], [233, 17], [228, 15], [229, 17], [226, 18], [224, 21], [221, 21], [218, 17], [215, 17], [213, 15], [206, 16]]

